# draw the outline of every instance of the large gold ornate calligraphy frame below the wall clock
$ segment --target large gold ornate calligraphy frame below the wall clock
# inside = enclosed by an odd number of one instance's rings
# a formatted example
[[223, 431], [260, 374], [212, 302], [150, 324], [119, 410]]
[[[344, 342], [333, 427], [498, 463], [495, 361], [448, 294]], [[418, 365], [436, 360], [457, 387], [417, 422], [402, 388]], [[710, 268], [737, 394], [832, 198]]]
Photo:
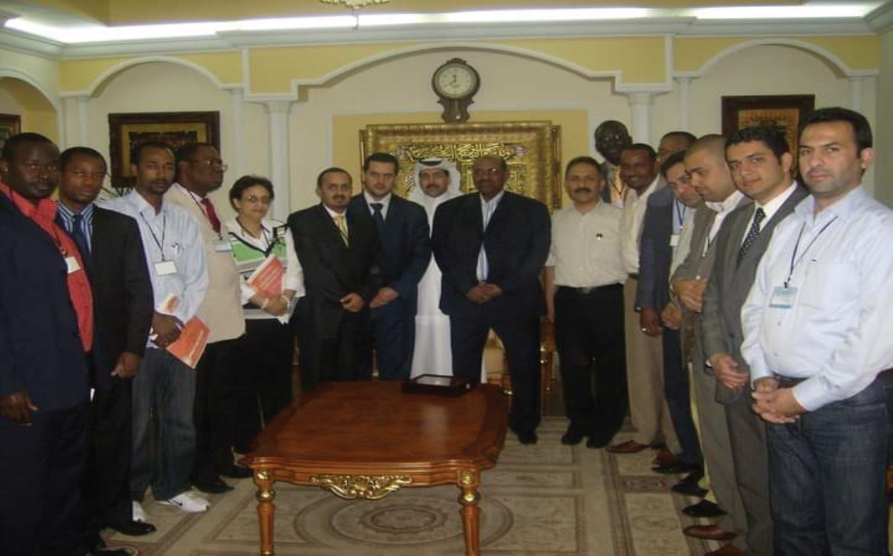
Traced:
[[470, 193], [474, 161], [497, 154], [508, 163], [507, 190], [550, 209], [561, 207], [561, 126], [551, 121], [371, 125], [360, 130], [361, 164], [370, 153], [390, 153], [400, 161], [395, 191], [403, 196], [415, 187], [413, 169], [421, 159], [455, 162], [461, 189]]

